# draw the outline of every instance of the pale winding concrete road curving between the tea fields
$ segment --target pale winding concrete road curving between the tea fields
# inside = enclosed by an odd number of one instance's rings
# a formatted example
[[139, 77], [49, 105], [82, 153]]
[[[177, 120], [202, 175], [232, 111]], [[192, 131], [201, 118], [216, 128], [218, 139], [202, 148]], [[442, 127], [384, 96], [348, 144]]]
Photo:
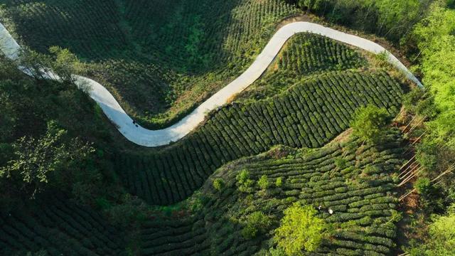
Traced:
[[[114, 99], [105, 87], [100, 83], [91, 80], [90, 78], [84, 78], [79, 75], [74, 75], [75, 83], [78, 87], [90, 87], [88, 91], [90, 97], [102, 108], [106, 116], [115, 124], [119, 132], [123, 134], [129, 141], [141, 145], [141, 146], [163, 146], [171, 142], [176, 142], [186, 134], [195, 129], [200, 122], [203, 122], [205, 114], [210, 110], [214, 110], [216, 107], [225, 104], [232, 95], [242, 92], [246, 87], [251, 85], [257, 80], [267, 67], [272, 63], [275, 56], [279, 53], [282, 46], [286, 41], [294, 36], [296, 33], [316, 33], [321, 36], [332, 38], [336, 41], [341, 41], [352, 46], [356, 46], [363, 50], [368, 50], [370, 53], [382, 53], [386, 52], [388, 55], [389, 62], [394, 65], [398, 70], [401, 70], [407, 78], [415, 82], [419, 87], [423, 87], [422, 83], [403, 65], [400, 60], [395, 58], [394, 55], [389, 53], [385, 48], [369, 41], [365, 38], [353, 36], [348, 33], [336, 31], [333, 28], [327, 28], [316, 23], [309, 22], [294, 22], [289, 23], [286, 26], [277, 31], [272, 39], [270, 39], [267, 46], [265, 46], [262, 53], [260, 53], [255, 62], [250, 65], [250, 68], [245, 70], [242, 75], [230, 82], [220, 91], [216, 92], [212, 97], [205, 100], [196, 110], [193, 110], [185, 118], [181, 119], [171, 127], [159, 130], [149, 130], [141, 126], [136, 126], [133, 123], [133, 119], [128, 116], [126, 112], [119, 105], [119, 102]], [[0, 49], [10, 59], [16, 60], [20, 46], [10, 35], [10, 33], [0, 23]], [[23, 70], [23, 69], [22, 69]], [[24, 71], [25, 72], [25, 71]], [[49, 74], [52, 79], [58, 79], [53, 73]]]

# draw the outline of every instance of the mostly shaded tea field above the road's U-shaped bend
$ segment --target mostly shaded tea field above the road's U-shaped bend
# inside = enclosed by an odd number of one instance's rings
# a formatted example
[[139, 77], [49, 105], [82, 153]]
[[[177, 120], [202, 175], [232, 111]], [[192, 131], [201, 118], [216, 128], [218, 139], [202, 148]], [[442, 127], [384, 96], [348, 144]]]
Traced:
[[[0, 21], [21, 45], [70, 49], [87, 74], [145, 127], [166, 127], [244, 71], [277, 22], [279, 0], [1, 0]], [[102, 15], [100, 15], [102, 14]]]

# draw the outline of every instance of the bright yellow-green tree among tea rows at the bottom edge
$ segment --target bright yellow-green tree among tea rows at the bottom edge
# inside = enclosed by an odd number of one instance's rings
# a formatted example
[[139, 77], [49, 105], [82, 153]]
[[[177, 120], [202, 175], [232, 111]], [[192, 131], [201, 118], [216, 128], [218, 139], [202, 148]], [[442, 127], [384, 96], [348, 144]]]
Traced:
[[316, 217], [317, 211], [311, 206], [296, 202], [284, 210], [281, 225], [275, 230], [274, 241], [277, 249], [286, 255], [303, 255], [302, 250], [314, 252], [328, 235], [328, 225]]

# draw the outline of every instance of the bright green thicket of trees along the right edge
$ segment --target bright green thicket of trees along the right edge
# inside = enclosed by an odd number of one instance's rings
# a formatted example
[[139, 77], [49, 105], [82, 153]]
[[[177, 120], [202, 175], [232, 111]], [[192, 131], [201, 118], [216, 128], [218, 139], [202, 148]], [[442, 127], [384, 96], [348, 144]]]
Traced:
[[446, 255], [448, 251], [444, 250], [450, 248], [447, 243], [449, 233], [441, 233], [438, 238], [434, 233], [434, 229], [441, 225], [438, 220], [428, 229], [426, 225], [434, 221], [431, 216], [435, 213], [453, 214], [448, 207], [455, 202], [453, 4], [453, 1], [435, 1], [427, 16], [414, 26], [407, 41], [414, 46], [410, 53], [427, 87], [426, 92], [413, 92], [405, 101], [407, 110], [414, 116], [414, 125], [416, 120], [421, 123], [412, 132], [412, 137], [422, 139], [415, 147], [416, 161], [412, 164], [423, 170], [416, 175], [414, 183], [419, 208], [414, 209], [416, 213], [410, 216], [408, 224], [408, 233], [412, 238], [410, 247], [414, 247], [408, 251], [412, 255]]

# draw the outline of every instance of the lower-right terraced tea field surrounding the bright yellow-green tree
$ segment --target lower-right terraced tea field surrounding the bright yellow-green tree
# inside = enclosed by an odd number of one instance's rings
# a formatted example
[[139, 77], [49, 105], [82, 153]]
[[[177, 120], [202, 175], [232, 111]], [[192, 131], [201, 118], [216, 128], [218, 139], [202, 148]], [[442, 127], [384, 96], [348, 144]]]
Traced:
[[[350, 141], [282, 159], [274, 157], [277, 149], [224, 166], [190, 199], [200, 203], [200, 210], [186, 218], [144, 224], [141, 253], [253, 255], [267, 248], [264, 241], [270, 238], [268, 232], [281, 218], [282, 210], [299, 200], [318, 208], [318, 215], [335, 229], [330, 240], [307, 255], [390, 255], [396, 236], [390, 220], [397, 211], [390, 174], [402, 164], [402, 149], [400, 132], [388, 137], [390, 144], [381, 149]], [[346, 164], [339, 166], [339, 159]], [[267, 175], [272, 185], [266, 192], [253, 185], [253, 191], [242, 193], [235, 178], [242, 170], [247, 170], [253, 181]], [[218, 177], [227, 182], [222, 193], [212, 187], [211, 181]], [[277, 178], [282, 179], [280, 187], [274, 185]], [[256, 210], [269, 215], [275, 224], [257, 238], [245, 239], [242, 220]]]

